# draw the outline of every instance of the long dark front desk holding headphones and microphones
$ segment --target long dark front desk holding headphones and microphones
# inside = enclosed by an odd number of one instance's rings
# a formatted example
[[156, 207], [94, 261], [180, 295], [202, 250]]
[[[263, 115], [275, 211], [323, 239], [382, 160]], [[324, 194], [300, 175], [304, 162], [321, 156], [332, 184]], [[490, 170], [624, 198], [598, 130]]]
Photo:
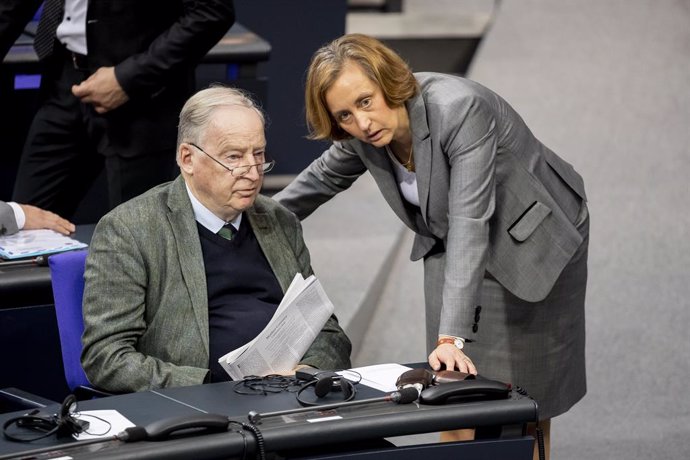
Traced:
[[[133, 423], [145, 425], [166, 417], [199, 412], [219, 413], [232, 420], [247, 423], [246, 414], [250, 410], [265, 412], [299, 407], [293, 393], [245, 396], [235, 394], [233, 385], [233, 382], [225, 382], [113, 396], [82, 402], [80, 408], [117, 409]], [[360, 385], [357, 399], [380, 395], [382, 393]], [[334, 401], [336, 399], [327, 400], [328, 403]], [[52, 409], [57, 410], [57, 407]], [[536, 404], [515, 392], [504, 400], [456, 402], [442, 406], [378, 402], [339, 408], [336, 412], [341, 418], [318, 423], [310, 423], [306, 417], [298, 416], [265, 418], [258, 428], [263, 434], [266, 451], [279, 451], [288, 453], [289, 456], [289, 452], [295, 452], [296, 449], [321, 447], [327, 451], [328, 446], [334, 444], [348, 443], [356, 447], [361, 442], [382, 437], [478, 427], [491, 428], [494, 435], [474, 442], [398, 447], [367, 454], [375, 455], [369, 458], [377, 459], [393, 456], [429, 458], [431, 455], [435, 459], [443, 459], [458, 454], [465, 460], [532, 458], [533, 438], [524, 436], [522, 428], [525, 423], [536, 421]], [[16, 415], [2, 414], [0, 423]], [[248, 432], [246, 440], [248, 448], [253, 452], [255, 441]], [[3, 439], [0, 441], [0, 455], [19, 454], [21, 451], [50, 445], [60, 445], [63, 450], [67, 447], [64, 441], [60, 443], [54, 438], [28, 445]], [[87, 446], [88, 449], [70, 451], [69, 455], [74, 459], [241, 458], [244, 440], [240, 434], [228, 432], [159, 442], [125, 444], [114, 441], [99, 446], [102, 448], [97, 452], [93, 451], [92, 446]]]

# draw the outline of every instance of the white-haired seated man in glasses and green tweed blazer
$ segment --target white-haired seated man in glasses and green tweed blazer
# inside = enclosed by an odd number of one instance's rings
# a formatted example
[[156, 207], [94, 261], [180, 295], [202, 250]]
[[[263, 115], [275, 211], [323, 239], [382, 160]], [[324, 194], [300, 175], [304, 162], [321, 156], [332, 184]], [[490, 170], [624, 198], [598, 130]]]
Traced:
[[[227, 380], [217, 363], [268, 323], [295, 273], [311, 274], [294, 215], [259, 195], [264, 117], [212, 87], [182, 109], [181, 175], [107, 214], [86, 264], [82, 364], [105, 390]], [[350, 366], [331, 317], [300, 365]]]

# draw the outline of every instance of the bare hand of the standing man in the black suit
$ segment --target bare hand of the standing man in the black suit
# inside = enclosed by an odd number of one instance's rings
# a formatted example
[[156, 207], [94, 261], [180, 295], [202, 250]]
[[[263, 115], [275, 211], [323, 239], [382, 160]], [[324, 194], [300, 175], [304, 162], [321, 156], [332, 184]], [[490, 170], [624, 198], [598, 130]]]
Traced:
[[72, 86], [72, 94], [85, 104], [93, 105], [98, 113], [120, 107], [129, 96], [115, 78], [115, 67], [101, 67], [89, 78]]

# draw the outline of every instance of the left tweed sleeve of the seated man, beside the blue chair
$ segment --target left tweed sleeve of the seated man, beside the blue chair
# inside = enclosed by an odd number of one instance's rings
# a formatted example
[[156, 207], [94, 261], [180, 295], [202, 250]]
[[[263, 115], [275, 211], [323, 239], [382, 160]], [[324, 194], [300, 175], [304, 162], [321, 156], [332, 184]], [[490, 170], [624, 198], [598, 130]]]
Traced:
[[[175, 365], [139, 351], [144, 334], [153, 333], [147, 331], [147, 314], [152, 316], [147, 285], [154, 280], [130, 226], [113, 213], [94, 232], [84, 278], [82, 365], [93, 385], [129, 392], [204, 382], [207, 368]], [[194, 329], [169, 326], [169, 336], [157, 337], [168, 351], [174, 345], [166, 343], [183, 343], [186, 338], [177, 334]]]

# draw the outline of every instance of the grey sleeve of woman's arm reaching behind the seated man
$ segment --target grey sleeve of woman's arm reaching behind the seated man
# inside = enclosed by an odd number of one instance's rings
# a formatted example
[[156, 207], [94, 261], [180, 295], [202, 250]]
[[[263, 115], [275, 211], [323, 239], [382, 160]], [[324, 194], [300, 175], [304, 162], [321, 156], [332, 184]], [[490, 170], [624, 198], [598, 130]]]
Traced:
[[302, 220], [364, 174], [366, 166], [346, 143], [334, 142], [273, 199]]

